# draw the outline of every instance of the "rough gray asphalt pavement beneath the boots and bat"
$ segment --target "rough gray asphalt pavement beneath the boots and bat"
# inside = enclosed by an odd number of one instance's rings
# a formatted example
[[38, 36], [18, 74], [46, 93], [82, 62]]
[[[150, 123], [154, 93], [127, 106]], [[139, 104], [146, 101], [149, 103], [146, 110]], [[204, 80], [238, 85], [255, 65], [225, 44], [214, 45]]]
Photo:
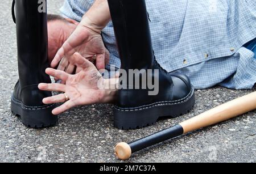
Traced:
[[[63, 0], [49, 0], [48, 11], [57, 13]], [[27, 129], [10, 111], [10, 97], [18, 79], [15, 25], [11, 1], [0, 6], [0, 162], [119, 162], [114, 146], [130, 142], [207, 111], [218, 104], [253, 91], [221, 87], [196, 91], [189, 114], [141, 130], [113, 128], [113, 105], [72, 109], [49, 129]], [[129, 162], [256, 162], [256, 112], [201, 129], [133, 155]]]

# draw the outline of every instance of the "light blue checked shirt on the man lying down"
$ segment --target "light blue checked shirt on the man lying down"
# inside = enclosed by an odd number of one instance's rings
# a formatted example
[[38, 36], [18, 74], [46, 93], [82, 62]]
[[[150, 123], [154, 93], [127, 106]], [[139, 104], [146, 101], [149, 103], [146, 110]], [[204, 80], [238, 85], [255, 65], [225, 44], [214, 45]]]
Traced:
[[[80, 21], [93, 0], [65, 0], [60, 11]], [[220, 85], [250, 89], [256, 56], [246, 43], [256, 38], [255, 0], [146, 0], [152, 46], [160, 65], [191, 79], [196, 89]], [[110, 65], [121, 62], [113, 24], [102, 31]]]

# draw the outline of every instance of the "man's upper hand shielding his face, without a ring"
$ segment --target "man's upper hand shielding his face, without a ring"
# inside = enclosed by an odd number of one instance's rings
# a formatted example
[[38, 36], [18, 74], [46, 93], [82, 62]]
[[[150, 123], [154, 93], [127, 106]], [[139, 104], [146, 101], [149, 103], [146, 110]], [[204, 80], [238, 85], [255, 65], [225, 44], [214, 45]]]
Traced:
[[76, 52], [89, 61], [96, 61], [98, 70], [104, 69], [109, 62], [109, 52], [104, 46], [100, 32], [87, 27], [85, 23], [80, 23], [61, 46], [51, 62], [51, 67], [54, 68], [59, 64], [58, 70], [72, 74], [75, 66], [70, 62]]

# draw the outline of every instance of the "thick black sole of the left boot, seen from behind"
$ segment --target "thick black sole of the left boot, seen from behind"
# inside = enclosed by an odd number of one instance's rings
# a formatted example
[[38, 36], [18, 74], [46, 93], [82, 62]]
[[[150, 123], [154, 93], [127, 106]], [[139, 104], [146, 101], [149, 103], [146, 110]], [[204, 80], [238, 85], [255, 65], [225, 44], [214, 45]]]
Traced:
[[11, 97], [11, 111], [20, 116], [22, 123], [28, 128], [47, 128], [58, 123], [58, 117], [52, 114], [56, 106], [45, 105], [44, 107], [28, 107], [19, 100]]

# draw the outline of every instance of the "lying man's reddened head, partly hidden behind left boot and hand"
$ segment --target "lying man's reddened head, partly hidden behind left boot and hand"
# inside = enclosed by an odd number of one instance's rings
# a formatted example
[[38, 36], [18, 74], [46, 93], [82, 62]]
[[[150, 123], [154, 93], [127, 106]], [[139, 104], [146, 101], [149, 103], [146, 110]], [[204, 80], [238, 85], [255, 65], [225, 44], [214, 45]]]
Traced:
[[71, 33], [79, 24], [75, 20], [65, 19], [59, 15], [47, 15], [48, 23], [48, 58], [49, 62], [57, 53], [57, 50], [63, 45], [64, 41], [68, 39]]

